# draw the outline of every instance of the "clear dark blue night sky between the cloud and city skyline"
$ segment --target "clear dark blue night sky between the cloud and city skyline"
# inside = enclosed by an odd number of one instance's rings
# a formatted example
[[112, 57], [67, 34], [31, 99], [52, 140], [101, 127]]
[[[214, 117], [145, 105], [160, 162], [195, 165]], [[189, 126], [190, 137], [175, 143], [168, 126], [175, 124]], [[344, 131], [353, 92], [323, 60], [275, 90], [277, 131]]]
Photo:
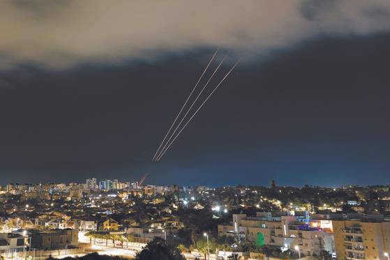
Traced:
[[148, 184], [388, 183], [390, 30], [293, 42], [255, 54], [222, 45], [219, 60], [232, 50], [223, 72], [242, 62], [160, 162], [151, 158], [218, 45], [58, 65], [0, 44], [0, 183], [146, 172]]

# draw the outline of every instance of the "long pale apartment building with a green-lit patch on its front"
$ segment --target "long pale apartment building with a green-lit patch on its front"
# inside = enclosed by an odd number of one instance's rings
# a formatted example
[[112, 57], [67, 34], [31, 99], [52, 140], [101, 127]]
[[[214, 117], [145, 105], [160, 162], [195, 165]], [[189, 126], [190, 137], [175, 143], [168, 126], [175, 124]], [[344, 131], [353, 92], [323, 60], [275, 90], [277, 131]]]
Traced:
[[218, 225], [218, 236], [237, 235], [257, 247], [275, 245], [283, 250], [294, 250], [298, 246], [307, 256], [318, 256], [322, 250], [334, 251], [333, 235], [321, 227], [310, 227], [308, 215], [257, 213], [256, 217], [248, 217], [234, 214], [232, 224]]

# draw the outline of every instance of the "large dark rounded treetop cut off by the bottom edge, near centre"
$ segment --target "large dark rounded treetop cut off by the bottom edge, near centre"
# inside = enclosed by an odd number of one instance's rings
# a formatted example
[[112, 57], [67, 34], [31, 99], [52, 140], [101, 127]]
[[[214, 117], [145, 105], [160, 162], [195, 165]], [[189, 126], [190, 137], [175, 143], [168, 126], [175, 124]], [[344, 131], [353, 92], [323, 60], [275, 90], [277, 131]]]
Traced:
[[186, 260], [178, 248], [167, 245], [165, 240], [154, 238], [137, 254], [135, 260]]

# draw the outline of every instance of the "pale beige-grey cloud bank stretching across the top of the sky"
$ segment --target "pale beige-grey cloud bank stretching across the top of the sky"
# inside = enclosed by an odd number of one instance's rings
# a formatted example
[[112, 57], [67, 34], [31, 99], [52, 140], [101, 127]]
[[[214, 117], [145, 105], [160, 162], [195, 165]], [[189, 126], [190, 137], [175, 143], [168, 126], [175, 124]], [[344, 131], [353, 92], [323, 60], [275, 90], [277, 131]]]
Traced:
[[217, 46], [256, 56], [316, 36], [389, 29], [389, 0], [3, 0], [0, 68], [67, 68]]

